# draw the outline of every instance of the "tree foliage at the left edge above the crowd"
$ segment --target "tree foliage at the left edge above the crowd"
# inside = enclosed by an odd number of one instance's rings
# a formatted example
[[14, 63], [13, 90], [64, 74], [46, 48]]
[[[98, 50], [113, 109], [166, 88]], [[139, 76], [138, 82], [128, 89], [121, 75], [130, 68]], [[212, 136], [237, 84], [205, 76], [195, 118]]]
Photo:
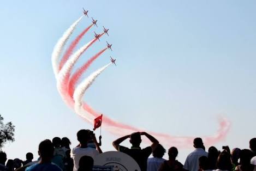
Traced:
[[15, 126], [13, 123], [9, 122], [4, 124], [3, 123], [4, 118], [0, 114], [0, 149], [3, 147], [3, 145], [10, 141], [14, 142], [14, 131]]

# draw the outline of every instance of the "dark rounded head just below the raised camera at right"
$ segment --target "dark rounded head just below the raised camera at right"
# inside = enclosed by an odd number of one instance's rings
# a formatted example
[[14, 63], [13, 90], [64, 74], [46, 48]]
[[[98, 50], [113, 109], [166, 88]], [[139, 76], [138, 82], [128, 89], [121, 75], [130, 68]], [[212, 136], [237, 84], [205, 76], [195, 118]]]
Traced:
[[217, 168], [221, 170], [232, 170], [232, 167], [230, 154], [226, 150], [222, 151], [217, 160]]

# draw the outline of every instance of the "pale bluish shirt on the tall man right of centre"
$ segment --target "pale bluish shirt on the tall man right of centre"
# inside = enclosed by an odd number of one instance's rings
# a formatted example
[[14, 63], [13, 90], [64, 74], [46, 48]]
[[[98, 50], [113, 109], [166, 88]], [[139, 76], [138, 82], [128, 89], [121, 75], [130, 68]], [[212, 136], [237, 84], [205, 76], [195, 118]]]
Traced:
[[184, 163], [183, 168], [189, 171], [198, 171], [199, 169], [199, 158], [201, 156], [208, 157], [208, 152], [204, 149], [197, 148], [193, 152], [191, 152]]

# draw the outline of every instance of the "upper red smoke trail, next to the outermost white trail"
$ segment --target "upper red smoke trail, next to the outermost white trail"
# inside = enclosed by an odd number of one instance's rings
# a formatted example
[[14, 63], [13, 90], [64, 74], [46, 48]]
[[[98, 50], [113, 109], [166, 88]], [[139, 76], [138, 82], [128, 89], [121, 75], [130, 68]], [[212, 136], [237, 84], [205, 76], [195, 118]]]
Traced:
[[86, 34], [86, 32], [88, 32], [88, 30], [93, 26], [90, 25], [89, 27], [87, 27], [84, 31], [82, 31], [82, 33], [80, 33], [75, 40], [71, 43], [71, 45], [69, 46], [69, 48], [67, 49], [67, 51], [64, 53], [63, 58], [61, 59], [61, 63], [59, 64], [59, 70], [62, 69], [63, 65], [67, 62], [68, 58], [70, 57], [70, 55], [73, 53], [73, 50], [75, 49], [76, 45], [78, 45], [79, 41], [82, 39], [82, 37]]

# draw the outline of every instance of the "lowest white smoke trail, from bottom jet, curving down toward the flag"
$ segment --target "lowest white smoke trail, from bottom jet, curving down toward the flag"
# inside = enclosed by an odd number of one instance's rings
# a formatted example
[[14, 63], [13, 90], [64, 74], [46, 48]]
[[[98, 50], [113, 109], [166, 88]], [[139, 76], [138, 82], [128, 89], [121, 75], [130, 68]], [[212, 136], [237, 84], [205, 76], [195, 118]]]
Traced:
[[86, 112], [83, 108], [83, 101], [82, 97], [85, 94], [85, 91], [92, 85], [94, 80], [106, 69], [111, 63], [103, 66], [102, 68], [98, 69], [97, 71], [94, 71], [90, 76], [88, 76], [84, 81], [82, 81], [78, 87], [76, 87], [74, 91], [74, 101], [75, 101], [75, 112], [79, 115], [86, 115], [86, 117], [83, 117], [87, 119], [90, 123], [93, 123], [94, 116], [88, 112]]

